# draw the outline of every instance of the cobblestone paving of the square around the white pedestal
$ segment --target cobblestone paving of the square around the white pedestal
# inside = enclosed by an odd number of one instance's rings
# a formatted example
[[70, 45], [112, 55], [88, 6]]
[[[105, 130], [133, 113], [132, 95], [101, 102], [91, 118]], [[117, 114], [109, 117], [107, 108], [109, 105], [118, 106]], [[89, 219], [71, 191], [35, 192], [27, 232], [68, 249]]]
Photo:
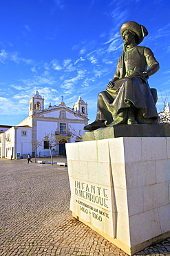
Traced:
[[[0, 158], [0, 255], [127, 256], [69, 207], [67, 167]], [[170, 238], [136, 255], [170, 255]]]

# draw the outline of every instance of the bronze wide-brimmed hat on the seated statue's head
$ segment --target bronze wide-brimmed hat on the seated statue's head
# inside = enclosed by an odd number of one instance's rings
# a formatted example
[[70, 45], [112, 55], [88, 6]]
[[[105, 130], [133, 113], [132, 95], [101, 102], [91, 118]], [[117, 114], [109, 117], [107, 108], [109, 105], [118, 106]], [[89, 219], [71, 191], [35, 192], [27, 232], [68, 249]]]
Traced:
[[147, 28], [145, 28], [145, 26], [138, 24], [135, 21], [127, 21], [120, 27], [121, 37], [123, 37], [123, 32], [125, 30], [131, 30], [134, 33], [136, 33], [136, 44], [140, 44], [143, 41], [144, 37], [148, 35]]

